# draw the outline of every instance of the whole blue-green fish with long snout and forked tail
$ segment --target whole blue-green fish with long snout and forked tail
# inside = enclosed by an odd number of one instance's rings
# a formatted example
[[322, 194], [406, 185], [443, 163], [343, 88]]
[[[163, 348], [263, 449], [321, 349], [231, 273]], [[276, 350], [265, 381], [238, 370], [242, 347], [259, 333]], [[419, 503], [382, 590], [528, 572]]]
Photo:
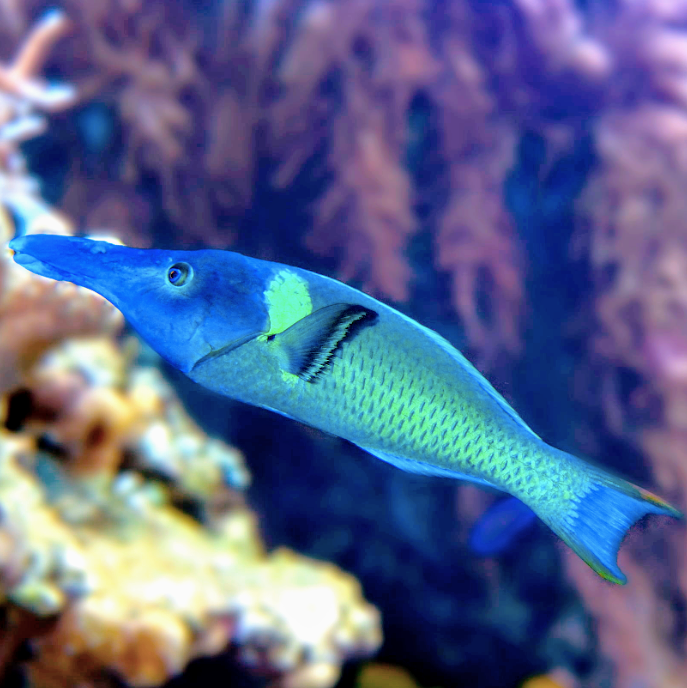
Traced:
[[15, 260], [112, 301], [203, 386], [343, 437], [405, 470], [527, 504], [597, 573], [625, 582], [620, 543], [651, 493], [547, 445], [446, 340], [340, 282], [225, 251], [144, 251], [67, 237]]

